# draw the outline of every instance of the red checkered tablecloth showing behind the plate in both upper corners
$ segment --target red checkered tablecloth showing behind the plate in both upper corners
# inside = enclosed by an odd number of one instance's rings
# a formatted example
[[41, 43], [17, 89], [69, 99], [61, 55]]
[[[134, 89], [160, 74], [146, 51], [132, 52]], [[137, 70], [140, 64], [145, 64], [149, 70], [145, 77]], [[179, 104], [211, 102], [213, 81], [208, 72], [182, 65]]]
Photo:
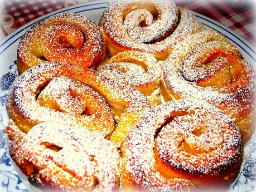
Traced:
[[[15, 29], [44, 14], [94, 0], [11, 0], [0, 4], [0, 40]], [[256, 47], [256, 6], [247, 0], [173, 0], [177, 5], [218, 21]]]

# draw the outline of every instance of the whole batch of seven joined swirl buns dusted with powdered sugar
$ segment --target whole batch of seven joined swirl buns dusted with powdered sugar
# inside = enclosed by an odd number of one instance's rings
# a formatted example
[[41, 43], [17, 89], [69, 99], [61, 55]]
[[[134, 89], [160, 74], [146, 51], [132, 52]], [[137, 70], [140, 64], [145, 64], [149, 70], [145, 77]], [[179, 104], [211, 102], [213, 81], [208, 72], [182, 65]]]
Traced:
[[98, 25], [46, 18], [22, 37], [17, 69], [9, 153], [42, 190], [227, 190], [239, 173], [255, 72], [171, 0], [110, 1]]

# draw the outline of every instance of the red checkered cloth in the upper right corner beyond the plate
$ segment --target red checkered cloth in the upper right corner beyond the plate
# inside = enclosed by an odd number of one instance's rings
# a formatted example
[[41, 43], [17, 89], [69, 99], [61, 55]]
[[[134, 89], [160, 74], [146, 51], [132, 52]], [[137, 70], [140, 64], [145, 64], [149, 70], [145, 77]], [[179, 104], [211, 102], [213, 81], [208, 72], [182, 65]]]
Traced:
[[256, 3], [239, 0], [173, 0], [180, 6], [220, 22], [256, 47]]

